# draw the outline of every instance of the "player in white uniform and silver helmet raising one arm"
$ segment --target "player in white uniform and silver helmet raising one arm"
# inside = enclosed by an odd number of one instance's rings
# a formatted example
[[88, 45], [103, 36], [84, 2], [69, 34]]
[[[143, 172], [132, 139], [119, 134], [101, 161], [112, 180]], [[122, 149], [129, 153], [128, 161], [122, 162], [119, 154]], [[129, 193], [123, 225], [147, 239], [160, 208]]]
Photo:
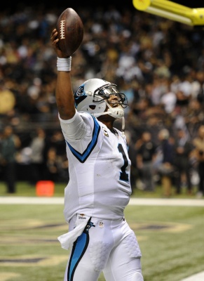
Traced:
[[[128, 100], [116, 84], [88, 79], [72, 91], [72, 56], [57, 55], [56, 103], [67, 146], [69, 183], [64, 218], [69, 231], [58, 237], [70, 249], [64, 281], [143, 281], [141, 251], [123, 211], [131, 195], [130, 159], [124, 129]], [[122, 119], [122, 131], [114, 121]]]

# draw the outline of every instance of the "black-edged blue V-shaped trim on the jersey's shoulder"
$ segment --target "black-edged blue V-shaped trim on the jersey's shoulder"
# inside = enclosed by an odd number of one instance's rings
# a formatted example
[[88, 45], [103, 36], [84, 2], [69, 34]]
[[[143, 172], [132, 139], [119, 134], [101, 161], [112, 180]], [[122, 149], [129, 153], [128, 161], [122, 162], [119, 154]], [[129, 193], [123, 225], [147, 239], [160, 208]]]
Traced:
[[[91, 117], [93, 117], [91, 115]], [[92, 139], [90, 141], [90, 143], [88, 144], [86, 150], [84, 150], [83, 153], [80, 153], [79, 151], [75, 150], [74, 148], [72, 148], [72, 145], [70, 145], [67, 141], [67, 145], [69, 146], [69, 149], [72, 151], [72, 154], [79, 160], [79, 162], [84, 163], [86, 161], [86, 159], [88, 158], [88, 156], [90, 155], [90, 153], [93, 151], [93, 149], [95, 148], [95, 145], [97, 143], [97, 138], [98, 135], [100, 133], [100, 125], [98, 124], [97, 120], [95, 119], [95, 117], [93, 117], [93, 121], [94, 121], [94, 128], [93, 128], [93, 135], [92, 135]]]

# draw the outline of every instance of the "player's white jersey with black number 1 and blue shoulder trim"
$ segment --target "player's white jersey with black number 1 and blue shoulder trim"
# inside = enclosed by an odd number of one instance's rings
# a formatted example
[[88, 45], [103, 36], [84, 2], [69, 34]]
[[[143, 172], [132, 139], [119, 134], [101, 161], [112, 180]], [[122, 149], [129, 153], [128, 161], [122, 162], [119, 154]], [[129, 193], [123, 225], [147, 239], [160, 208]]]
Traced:
[[60, 124], [69, 161], [64, 190], [67, 223], [77, 213], [111, 220], [123, 217], [132, 192], [125, 136], [117, 129], [112, 133], [86, 112], [60, 119]]

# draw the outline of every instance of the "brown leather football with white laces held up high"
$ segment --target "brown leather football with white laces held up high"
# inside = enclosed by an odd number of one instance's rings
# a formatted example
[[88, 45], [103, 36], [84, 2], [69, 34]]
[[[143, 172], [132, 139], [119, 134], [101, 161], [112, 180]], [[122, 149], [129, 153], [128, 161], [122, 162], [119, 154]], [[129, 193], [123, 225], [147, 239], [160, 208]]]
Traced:
[[83, 40], [83, 22], [73, 8], [64, 10], [57, 19], [58, 47], [65, 57], [76, 52]]

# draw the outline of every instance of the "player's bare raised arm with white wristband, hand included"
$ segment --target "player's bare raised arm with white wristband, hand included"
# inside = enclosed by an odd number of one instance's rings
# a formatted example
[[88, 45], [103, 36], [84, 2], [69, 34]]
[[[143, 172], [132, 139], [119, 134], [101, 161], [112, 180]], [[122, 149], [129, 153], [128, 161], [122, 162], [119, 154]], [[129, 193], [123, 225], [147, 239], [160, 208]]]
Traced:
[[70, 75], [72, 57], [64, 57], [62, 51], [60, 51], [60, 49], [57, 47], [57, 42], [59, 39], [56, 38], [57, 30], [54, 29], [50, 39], [52, 41], [55, 53], [57, 54], [57, 84], [55, 89], [56, 103], [60, 117], [64, 120], [67, 120], [74, 117], [76, 112]]

